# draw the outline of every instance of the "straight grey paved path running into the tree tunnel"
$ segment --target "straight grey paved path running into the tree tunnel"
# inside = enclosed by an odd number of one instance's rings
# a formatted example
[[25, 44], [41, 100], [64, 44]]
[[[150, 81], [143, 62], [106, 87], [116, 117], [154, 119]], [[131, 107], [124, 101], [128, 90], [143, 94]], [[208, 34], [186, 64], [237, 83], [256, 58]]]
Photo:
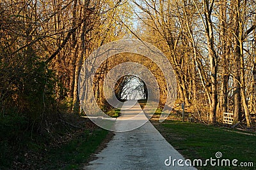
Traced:
[[[116, 120], [117, 131], [125, 131], [129, 127], [140, 126], [146, 122], [147, 117], [136, 103], [131, 108], [128, 101], [121, 110], [121, 116]], [[135, 122], [132, 124], [132, 122]], [[133, 131], [115, 132], [115, 136], [102, 152], [98, 153], [98, 159], [89, 163], [84, 169], [195, 169], [194, 167], [180, 167], [175, 162], [165, 166], [164, 161], [170, 159], [182, 159], [177, 150], [170, 145], [157, 129], [147, 121], [144, 125]], [[167, 164], [169, 161], [166, 162]], [[184, 162], [183, 162], [184, 164]]]

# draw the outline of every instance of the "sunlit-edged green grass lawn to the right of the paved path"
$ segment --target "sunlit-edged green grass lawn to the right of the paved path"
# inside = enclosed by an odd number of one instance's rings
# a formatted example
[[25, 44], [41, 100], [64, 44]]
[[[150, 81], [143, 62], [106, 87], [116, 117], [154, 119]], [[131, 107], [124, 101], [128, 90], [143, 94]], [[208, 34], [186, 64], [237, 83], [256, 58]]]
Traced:
[[169, 121], [157, 125], [164, 138], [186, 159], [222, 159], [253, 162], [254, 167], [198, 167], [198, 169], [256, 169], [256, 136], [223, 131], [218, 127]]

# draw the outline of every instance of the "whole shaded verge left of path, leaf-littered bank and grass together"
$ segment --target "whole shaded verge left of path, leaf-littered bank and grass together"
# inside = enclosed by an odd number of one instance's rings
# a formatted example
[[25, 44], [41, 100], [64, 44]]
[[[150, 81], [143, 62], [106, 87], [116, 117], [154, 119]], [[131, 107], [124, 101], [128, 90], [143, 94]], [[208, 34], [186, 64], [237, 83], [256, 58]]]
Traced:
[[[0, 121], [0, 169], [81, 169], [112, 135], [78, 115], [65, 117], [73, 126], [58, 122], [49, 133], [33, 136], [30, 131], [15, 129], [19, 120]], [[104, 124], [108, 127], [113, 121]]]

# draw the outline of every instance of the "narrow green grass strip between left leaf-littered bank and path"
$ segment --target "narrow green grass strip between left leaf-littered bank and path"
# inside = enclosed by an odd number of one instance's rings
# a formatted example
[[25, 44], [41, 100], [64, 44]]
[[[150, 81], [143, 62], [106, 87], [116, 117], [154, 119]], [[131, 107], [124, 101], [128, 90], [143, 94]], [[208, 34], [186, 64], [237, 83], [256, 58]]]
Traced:
[[[108, 131], [97, 128], [47, 153], [47, 169], [79, 169], [106, 138]], [[50, 160], [50, 161], [49, 161]], [[44, 167], [45, 168], [45, 167]]]

